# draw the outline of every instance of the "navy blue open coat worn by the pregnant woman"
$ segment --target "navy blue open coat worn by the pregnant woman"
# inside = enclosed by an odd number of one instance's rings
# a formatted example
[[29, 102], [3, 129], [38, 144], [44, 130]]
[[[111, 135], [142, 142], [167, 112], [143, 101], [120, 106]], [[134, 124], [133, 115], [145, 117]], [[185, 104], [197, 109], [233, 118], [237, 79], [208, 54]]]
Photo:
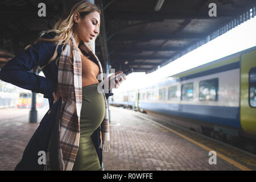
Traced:
[[[53, 32], [43, 35], [42, 38], [51, 39], [54, 37]], [[61, 54], [61, 44], [57, 48], [58, 55]], [[64, 49], [64, 48], [63, 48]], [[57, 84], [58, 67], [55, 64], [56, 60], [53, 60], [50, 64], [42, 69], [44, 76], [36, 75], [30, 72], [32, 68], [37, 65], [43, 67], [52, 57], [55, 51], [55, 43], [51, 42], [39, 42], [33, 44], [30, 48], [19, 53], [13, 59], [0, 70], [0, 79], [9, 82], [20, 88], [31, 90], [32, 92], [44, 94], [44, 98], [48, 98], [49, 111], [44, 115], [38, 129], [36, 129], [34, 135], [28, 142], [22, 159], [15, 167], [15, 170], [43, 170], [44, 164], [39, 164], [38, 155], [39, 151], [47, 151], [47, 146], [50, 142], [50, 156], [49, 163], [53, 170], [59, 170], [59, 161], [57, 144], [59, 137], [59, 111], [61, 106], [61, 98], [59, 101], [53, 104], [52, 93], [55, 90]], [[83, 51], [82, 51], [83, 52]], [[84, 53], [84, 52], [83, 52]], [[105, 96], [108, 99], [113, 93], [106, 93]], [[100, 127], [94, 131], [92, 135], [93, 144], [96, 148], [98, 159], [102, 164], [102, 149], [100, 147]]]

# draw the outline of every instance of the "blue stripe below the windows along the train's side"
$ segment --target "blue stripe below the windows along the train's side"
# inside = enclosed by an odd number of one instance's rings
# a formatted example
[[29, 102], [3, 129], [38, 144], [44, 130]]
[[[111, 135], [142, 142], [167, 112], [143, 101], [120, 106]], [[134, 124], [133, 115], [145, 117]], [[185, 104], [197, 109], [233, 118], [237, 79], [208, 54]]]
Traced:
[[240, 107], [139, 102], [139, 108], [241, 128]]

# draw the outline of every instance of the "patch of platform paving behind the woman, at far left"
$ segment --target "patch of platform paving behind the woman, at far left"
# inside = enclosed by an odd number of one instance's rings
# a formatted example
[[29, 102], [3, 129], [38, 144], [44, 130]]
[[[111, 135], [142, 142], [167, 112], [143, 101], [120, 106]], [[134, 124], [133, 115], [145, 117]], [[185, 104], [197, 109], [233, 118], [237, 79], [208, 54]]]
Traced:
[[0, 170], [14, 170], [47, 110], [38, 109], [38, 123], [28, 123], [30, 109], [0, 109]]

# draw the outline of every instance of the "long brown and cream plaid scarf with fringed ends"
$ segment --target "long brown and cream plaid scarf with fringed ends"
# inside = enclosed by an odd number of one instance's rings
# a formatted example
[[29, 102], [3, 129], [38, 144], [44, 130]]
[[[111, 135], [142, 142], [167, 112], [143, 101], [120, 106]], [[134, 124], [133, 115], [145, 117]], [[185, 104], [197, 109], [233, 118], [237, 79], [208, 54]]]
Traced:
[[[72, 44], [72, 47], [71, 47]], [[72, 48], [72, 50], [71, 50]], [[85, 51], [92, 59], [97, 60], [100, 67], [98, 75], [99, 82], [103, 81], [102, 67], [98, 57], [93, 53], [90, 47], [82, 42], [80, 48]], [[71, 64], [71, 61], [73, 65]], [[71, 36], [71, 40], [66, 44], [65, 49], [61, 52], [58, 71], [58, 88], [59, 92], [66, 98], [62, 101], [59, 119], [59, 169], [61, 171], [71, 171], [79, 149], [80, 139], [80, 112], [82, 107], [82, 62], [79, 48], [75, 39]], [[100, 88], [102, 90], [102, 88]], [[103, 92], [103, 90], [102, 90]], [[105, 99], [105, 117], [101, 123], [101, 144], [103, 151], [110, 151], [110, 135], [109, 135], [109, 115], [108, 104]], [[102, 141], [103, 140], [103, 141]], [[49, 145], [46, 154], [46, 167], [44, 170], [51, 170], [49, 165]]]

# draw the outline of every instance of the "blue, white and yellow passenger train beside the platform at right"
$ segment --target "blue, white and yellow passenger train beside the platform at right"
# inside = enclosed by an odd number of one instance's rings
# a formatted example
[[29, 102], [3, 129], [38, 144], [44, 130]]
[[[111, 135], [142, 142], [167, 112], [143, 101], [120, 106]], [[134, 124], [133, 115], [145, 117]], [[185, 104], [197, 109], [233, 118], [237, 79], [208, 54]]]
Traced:
[[113, 106], [163, 117], [220, 140], [256, 140], [256, 46], [144, 88], [115, 92]]

